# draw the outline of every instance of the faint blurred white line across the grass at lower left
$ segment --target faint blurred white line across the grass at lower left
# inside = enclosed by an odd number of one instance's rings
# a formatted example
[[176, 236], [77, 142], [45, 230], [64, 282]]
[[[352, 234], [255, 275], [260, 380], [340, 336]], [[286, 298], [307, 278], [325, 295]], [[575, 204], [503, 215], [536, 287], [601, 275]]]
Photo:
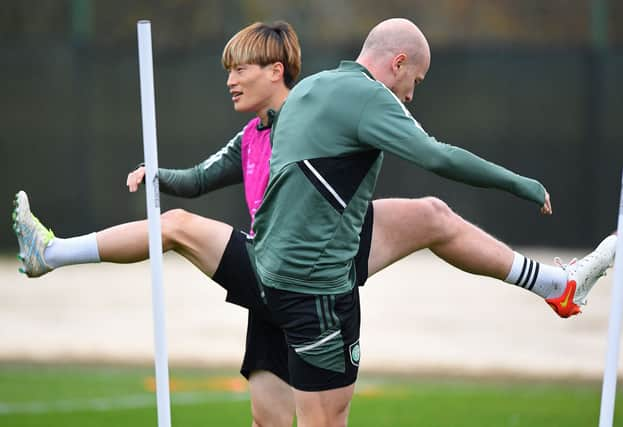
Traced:
[[[175, 405], [194, 405], [208, 402], [237, 402], [249, 400], [248, 393], [205, 393], [188, 392], [172, 395]], [[100, 397], [93, 399], [64, 399], [50, 402], [32, 401], [7, 403], [0, 402], [0, 415], [46, 414], [52, 412], [107, 412], [124, 409], [151, 408], [156, 406], [153, 394], [133, 394], [119, 397]]]

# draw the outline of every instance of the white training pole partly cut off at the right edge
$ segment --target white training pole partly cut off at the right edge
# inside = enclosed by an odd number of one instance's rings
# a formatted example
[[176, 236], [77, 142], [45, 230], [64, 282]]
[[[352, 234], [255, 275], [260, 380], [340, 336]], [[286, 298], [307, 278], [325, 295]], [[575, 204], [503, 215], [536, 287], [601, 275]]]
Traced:
[[619, 222], [617, 224], [617, 249], [614, 257], [614, 282], [612, 301], [610, 302], [610, 322], [608, 324], [608, 350], [606, 368], [601, 390], [601, 410], [599, 427], [612, 427], [614, 422], [614, 401], [617, 387], [619, 347], [621, 345], [621, 321], [623, 320], [623, 174], [621, 175], [621, 197], [619, 204]]

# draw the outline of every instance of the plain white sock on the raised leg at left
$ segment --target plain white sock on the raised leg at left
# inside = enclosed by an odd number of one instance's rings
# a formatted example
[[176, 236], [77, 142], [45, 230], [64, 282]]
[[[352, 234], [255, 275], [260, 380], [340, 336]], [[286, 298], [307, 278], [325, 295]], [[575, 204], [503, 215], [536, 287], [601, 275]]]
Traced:
[[63, 265], [100, 262], [95, 233], [60, 239], [55, 237], [43, 253], [45, 262], [52, 268]]

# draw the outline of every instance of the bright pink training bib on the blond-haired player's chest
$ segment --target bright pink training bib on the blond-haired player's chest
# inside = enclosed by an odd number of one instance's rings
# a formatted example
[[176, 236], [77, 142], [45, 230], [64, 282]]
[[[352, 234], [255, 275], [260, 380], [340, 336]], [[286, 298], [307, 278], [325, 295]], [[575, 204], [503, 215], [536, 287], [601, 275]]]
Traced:
[[256, 117], [247, 123], [242, 133], [241, 156], [242, 174], [244, 180], [244, 194], [251, 215], [249, 234], [255, 235], [253, 224], [255, 213], [262, 204], [264, 192], [268, 185], [270, 174], [270, 127], [258, 130], [260, 118]]

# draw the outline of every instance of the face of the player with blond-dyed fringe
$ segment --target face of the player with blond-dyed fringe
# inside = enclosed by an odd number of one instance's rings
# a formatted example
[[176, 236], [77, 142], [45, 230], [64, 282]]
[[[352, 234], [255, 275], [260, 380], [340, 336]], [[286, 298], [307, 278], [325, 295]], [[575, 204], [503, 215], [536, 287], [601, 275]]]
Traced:
[[234, 110], [258, 113], [268, 108], [273, 93], [271, 65], [241, 64], [229, 70], [227, 87]]

